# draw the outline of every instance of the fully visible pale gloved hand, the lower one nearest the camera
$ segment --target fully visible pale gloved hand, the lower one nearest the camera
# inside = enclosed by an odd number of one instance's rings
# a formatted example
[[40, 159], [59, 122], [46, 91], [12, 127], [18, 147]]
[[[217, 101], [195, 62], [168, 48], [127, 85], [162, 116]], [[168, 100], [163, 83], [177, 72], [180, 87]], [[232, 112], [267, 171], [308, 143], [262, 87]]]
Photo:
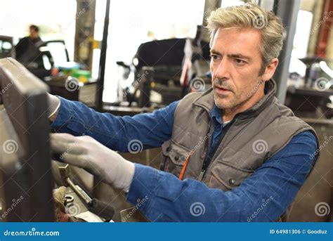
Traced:
[[51, 150], [64, 162], [82, 167], [115, 188], [129, 190], [134, 164], [90, 136], [51, 133]]

